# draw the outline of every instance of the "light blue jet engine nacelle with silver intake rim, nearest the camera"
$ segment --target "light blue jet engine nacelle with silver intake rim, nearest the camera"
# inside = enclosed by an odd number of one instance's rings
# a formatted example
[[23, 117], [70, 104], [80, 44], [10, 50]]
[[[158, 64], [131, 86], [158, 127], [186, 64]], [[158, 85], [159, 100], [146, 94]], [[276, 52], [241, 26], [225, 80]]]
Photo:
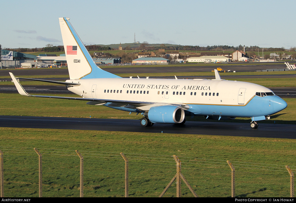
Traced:
[[184, 109], [177, 106], [166, 105], [152, 107], [145, 116], [153, 123], [182, 123], [185, 119]]

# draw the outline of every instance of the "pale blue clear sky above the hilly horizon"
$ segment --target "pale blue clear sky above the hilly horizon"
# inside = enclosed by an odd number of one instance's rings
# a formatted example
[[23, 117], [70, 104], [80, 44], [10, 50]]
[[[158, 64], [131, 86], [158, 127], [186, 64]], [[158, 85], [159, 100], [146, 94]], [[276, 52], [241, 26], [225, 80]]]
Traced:
[[59, 17], [69, 17], [84, 44], [136, 41], [192, 46], [296, 46], [295, 2], [63, 1], [1, 2], [2, 48], [63, 45]]

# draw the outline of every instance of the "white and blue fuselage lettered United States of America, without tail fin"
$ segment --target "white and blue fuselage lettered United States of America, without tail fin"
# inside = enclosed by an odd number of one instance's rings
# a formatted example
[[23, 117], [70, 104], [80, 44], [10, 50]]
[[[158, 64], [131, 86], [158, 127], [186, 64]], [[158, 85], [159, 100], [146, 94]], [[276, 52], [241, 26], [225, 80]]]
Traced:
[[[157, 104], [182, 103], [194, 115], [261, 117], [275, 114], [287, 103], [266, 87], [247, 82], [207, 79], [95, 78], [67, 80], [81, 83], [68, 90], [86, 98], [111, 99]], [[256, 95], [257, 93], [257, 95]], [[260, 94], [258, 94], [260, 93]], [[111, 105], [110, 105], [111, 104]], [[128, 112], [144, 112], [146, 106], [104, 106]], [[147, 105], [149, 106], [149, 105]], [[149, 106], [150, 107], [150, 106]]]

